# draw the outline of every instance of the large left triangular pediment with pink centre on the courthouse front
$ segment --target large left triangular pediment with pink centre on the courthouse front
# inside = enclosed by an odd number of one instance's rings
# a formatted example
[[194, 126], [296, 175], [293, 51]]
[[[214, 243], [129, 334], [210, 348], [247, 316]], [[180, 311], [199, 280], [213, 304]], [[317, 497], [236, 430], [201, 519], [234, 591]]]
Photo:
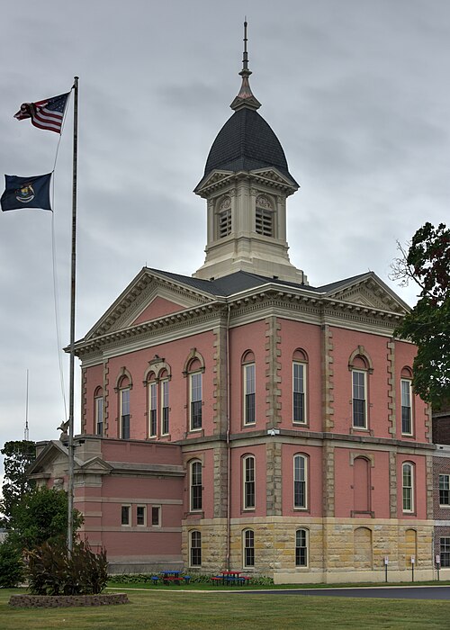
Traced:
[[197, 291], [183, 280], [144, 267], [89, 330], [84, 341], [185, 311], [210, 300], [211, 295]]

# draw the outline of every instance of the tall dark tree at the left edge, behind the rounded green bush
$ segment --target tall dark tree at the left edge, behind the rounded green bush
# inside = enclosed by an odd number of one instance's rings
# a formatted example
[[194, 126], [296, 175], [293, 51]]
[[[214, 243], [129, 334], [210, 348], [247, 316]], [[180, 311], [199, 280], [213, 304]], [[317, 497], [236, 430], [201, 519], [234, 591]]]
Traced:
[[26, 470], [36, 458], [36, 449], [34, 442], [18, 440], [5, 442], [1, 453], [4, 455], [4, 483], [0, 512], [3, 512], [4, 516], [0, 518], [0, 525], [9, 528], [11, 510], [23, 494], [31, 491], [34, 485], [27, 479]]

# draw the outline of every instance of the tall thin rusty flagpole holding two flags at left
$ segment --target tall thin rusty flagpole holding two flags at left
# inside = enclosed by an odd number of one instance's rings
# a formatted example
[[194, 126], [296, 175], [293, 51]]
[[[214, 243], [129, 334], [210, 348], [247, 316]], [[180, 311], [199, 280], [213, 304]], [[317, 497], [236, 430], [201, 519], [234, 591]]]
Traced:
[[75, 401], [75, 300], [76, 300], [76, 166], [78, 158], [78, 76], [74, 76], [74, 155], [72, 184], [72, 258], [70, 266], [70, 372], [68, 392], [67, 548], [74, 539], [74, 401]]

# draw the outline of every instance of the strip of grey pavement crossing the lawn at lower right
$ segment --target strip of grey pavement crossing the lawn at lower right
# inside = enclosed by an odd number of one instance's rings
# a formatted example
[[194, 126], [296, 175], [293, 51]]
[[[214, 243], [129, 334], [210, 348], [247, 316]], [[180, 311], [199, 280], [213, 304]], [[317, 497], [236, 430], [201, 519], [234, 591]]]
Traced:
[[364, 589], [269, 590], [271, 595], [323, 595], [338, 598], [448, 599], [450, 586], [386, 586]]

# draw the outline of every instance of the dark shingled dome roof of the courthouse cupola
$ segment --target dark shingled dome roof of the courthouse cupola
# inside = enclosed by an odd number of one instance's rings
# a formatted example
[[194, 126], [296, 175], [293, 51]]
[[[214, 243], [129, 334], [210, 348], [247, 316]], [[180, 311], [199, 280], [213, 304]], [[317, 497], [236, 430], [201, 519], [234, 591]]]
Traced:
[[243, 107], [225, 122], [212, 143], [203, 177], [215, 168], [238, 172], [266, 166], [274, 166], [296, 184], [274, 131], [254, 109]]

